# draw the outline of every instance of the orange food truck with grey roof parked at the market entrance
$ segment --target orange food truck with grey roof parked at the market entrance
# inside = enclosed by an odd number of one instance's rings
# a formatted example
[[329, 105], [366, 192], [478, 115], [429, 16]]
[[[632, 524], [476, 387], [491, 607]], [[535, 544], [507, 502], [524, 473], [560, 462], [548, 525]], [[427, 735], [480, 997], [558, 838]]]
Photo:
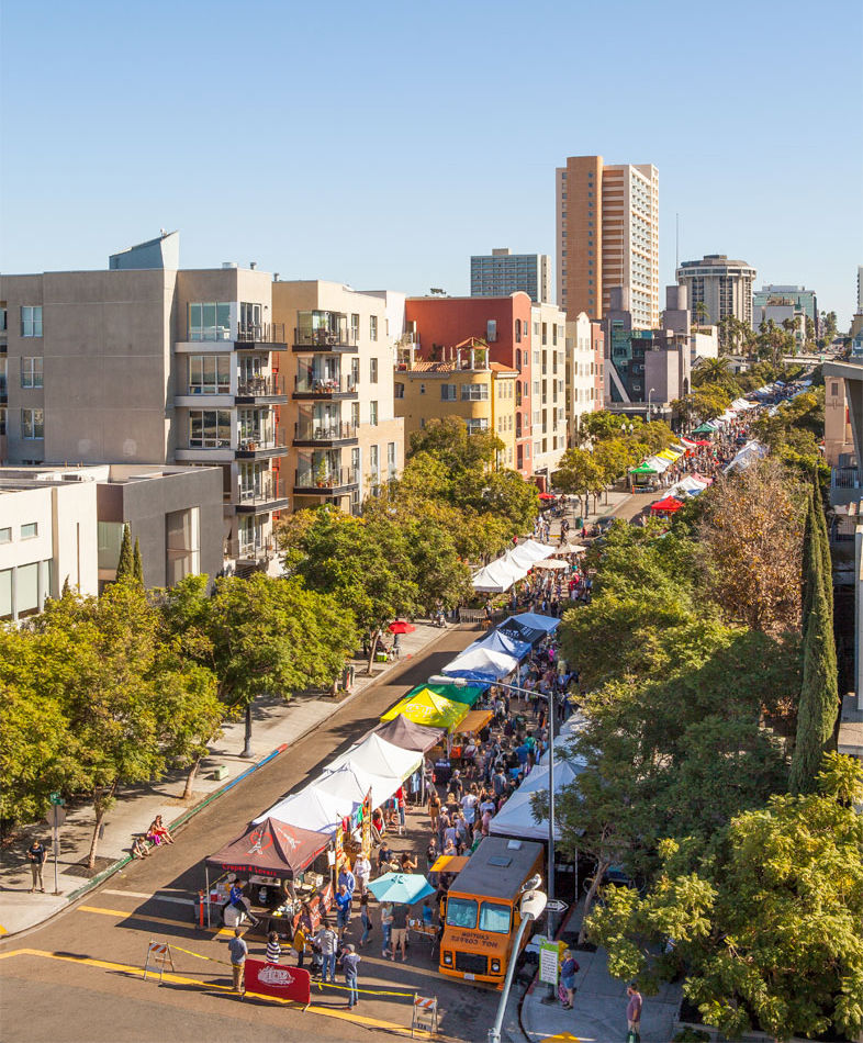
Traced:
[[[542, 873], [542, 844], [486, 837], [447, 894], [439, 971], [468, 982], [503, 987], [520, 923], [522, 889]], [[528, 942], [525, 931], [522, 947]]]

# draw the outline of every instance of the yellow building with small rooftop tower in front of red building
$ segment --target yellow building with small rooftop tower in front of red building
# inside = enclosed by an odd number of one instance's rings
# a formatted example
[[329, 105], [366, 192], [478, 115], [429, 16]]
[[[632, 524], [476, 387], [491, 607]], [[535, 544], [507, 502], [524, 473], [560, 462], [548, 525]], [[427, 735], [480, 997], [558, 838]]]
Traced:
[[404, 417], [405, 445], [413, 431], [432, 419], [460, 416], [468, 431], [492, 430], [504, 442], [501, 467], [513, 467], [515, 457], [516, 370], [489, 362], [487, 346], [471, 338], [437, 361], [418, 361], [413, 346], [400, 351], [395, 366], [395, 415]]

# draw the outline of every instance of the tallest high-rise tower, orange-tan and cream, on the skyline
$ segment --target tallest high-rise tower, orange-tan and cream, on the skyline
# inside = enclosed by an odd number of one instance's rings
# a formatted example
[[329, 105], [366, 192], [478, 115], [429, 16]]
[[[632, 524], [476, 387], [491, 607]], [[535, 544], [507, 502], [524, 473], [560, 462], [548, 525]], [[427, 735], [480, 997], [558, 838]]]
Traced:
[[602, 318], [615, 287], [630, 290], [636, 328], [659, 322], [659, 172], [570, 156], [556, 171], [558, 304], [574, 322]]

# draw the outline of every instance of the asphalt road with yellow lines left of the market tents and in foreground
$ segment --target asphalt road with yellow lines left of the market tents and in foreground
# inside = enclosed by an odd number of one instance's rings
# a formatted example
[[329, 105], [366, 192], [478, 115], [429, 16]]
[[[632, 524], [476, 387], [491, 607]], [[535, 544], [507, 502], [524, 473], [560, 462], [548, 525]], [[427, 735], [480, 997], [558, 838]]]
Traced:
[[[497, 994], [442, 979], [422, 939], [412, 945], [406, 964], [382, 960], [379, 927], [370, 947], [362, 950], [360, 988], [408, 997], [362, 996], [351, 1012], [344, 991], [318, 991], [314, 985], [305, 1012], [274, 1001], [240, 1000], [228, 991], [229, 967], [213, 962], [227, 958], [227, 932], [199, 930], [190, 904], [204, 886], [206, 854], [280, 796], [302, 787], [377, 724], [408, 686], [437, 673], [477, 636], [468, 628], [449, 630], [429, 651], [389, 675], [386, 684], [334, 707], [323, 726], [195, 816], [176, 844], [131, 864], [48, 923], [0, 943], [3, 1041], [392, 1040], [405, 1029], [410, 1033], [414, 992], [438, 997], [444, 1036], [484, 1039]], [[425, 815], [412, 812], [408, 838], [396, 839], [393, 846], [425, 850], [427, 835]], [[358, 940], [356, 918], [349, 937]], [[150, 939], [175, 946], [175, 973], [162, 984], [142, 977]], [[260, 956], [261, 941], [249, 942], [250, 954]], [[292, 965], [293, 957], [283, 962]]]

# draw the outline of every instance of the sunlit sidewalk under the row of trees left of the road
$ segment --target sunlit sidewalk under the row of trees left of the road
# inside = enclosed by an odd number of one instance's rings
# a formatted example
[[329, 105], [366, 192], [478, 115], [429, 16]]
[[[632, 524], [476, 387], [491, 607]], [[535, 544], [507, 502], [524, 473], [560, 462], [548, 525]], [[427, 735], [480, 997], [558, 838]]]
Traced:
[[[91, 805], [68, 810], [60, 828], [60, 853], [57, 860], [57, 886], [54, 890], [54, 859], [51, 854], [51, 828], [44, 821], [20, 830], [15, 839], [2, 851], [0, 864], [0, 935], [14, 934], [47, 920], [80, 893], [128, 859], [133, 834], [143, 832], [157, 815], [169, 827], [189, 818], [220, 790], [229, 788], [239, 777], [254, 771], [274, 752], [298, 742], [317, 725], [326, 720], [334, 707], [344, 706], [359, 696], [370, 685], [381, 680], [406, 662], [425, 652], [446, 630], [424, 623], [416, 623], [416, 630], [400, 637], [401, 659], [394, 663], [378, 663], [371, 676], [366, 675], [366, 663], [354, 660], [356, 680], [351, 692], [340, 698], [321, 695], [299, 695], [284, 703], [274, 696], [260, 696], [253, 709], [250, 758], [239, 755], [243, 750], [245, 721], [234, 720], [225, 725], [222, 738], [211, 747], [210, 755], [199, 767], [194, 780], [194, 793], [189, 800], [182, 799], [186, 774], [171, 772], [164, 778], [139, 786], [124, 787], [116, 804], [107, 812], [103, 837], [97, 851], [96, 873], [86, 867], [90, 853], [94, 818]], [[397, 682], [396, 682], [397, 683]], [[227, 770], [221, 778], [214, 777], [216, 769]], [[45, 894], [31, 895], [30, 863], [25, 851], [38, 837], [48, 849], [48, 859], [43, 867]]]

